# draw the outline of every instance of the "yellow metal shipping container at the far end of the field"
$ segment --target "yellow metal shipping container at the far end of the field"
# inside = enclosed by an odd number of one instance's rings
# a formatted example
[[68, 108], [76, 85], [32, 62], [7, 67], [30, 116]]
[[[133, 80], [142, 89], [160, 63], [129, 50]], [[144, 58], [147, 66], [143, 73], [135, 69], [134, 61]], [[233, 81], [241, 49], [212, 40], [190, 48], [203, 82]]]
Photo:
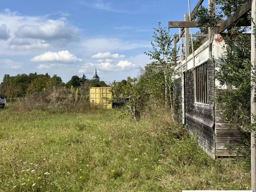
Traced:
[[99, 104], [106, 109], [112, 108], [105, 98], [112, 98], [112, 87], [90, 87], [90, 103]]

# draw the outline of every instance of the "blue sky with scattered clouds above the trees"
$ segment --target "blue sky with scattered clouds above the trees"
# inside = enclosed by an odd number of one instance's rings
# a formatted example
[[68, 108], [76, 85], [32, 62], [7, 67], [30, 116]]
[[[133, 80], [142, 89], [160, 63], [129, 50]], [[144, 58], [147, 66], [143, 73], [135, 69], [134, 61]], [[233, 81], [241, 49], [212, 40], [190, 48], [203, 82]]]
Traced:
[[152, 49], [153, 28], [184, 21], [188, 1], [12, 0], [1, 8], [0, 82], [4, 74], [48, 72], [66, 83], [73, 75], [91, 79], [95, 67], [112, 82], [151, 62], [143, 52]]

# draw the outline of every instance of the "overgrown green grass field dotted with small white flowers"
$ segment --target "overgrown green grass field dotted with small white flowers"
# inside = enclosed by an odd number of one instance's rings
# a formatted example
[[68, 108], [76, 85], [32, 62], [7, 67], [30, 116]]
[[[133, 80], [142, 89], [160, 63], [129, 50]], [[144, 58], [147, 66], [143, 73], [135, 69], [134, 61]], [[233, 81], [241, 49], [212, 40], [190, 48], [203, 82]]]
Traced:
[[[161, 123], [160, 123], [161, 122]], [[0, 110], [0, 191], [247, 190], [241, 160], [214, 161], [171, 118], [119, 110]]]

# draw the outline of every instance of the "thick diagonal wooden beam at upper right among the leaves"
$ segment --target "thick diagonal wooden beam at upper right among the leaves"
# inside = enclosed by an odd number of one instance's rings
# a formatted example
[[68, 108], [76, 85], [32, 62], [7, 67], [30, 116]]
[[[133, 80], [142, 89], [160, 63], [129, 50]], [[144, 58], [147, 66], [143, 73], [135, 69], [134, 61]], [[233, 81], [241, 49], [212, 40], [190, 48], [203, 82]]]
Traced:
[[239, 20], [245, 13], [252, 8], [252, 0], [248, 0], [242, 7], [237, 9], [229, 18], [227, 18], [220, 26], [219, 33], [222, 33], [225, 29], [229, 28], [235, 22]]

